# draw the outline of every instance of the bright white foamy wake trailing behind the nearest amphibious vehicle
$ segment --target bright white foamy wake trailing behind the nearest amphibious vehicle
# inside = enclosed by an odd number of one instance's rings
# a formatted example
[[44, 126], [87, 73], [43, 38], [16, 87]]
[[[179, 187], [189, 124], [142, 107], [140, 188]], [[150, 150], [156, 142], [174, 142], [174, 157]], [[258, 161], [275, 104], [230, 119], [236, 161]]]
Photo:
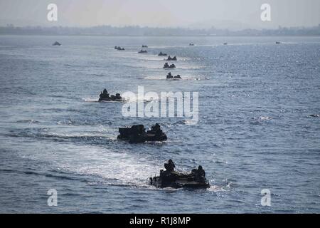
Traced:
[[150, 165], [145, 157], [105, 148], [73, 146], [68, 148], [68, 157], [63, 154], [60, 152], [55, 156], [55, 164], [60, 170], [94, 175], [107, 185], [146, 187], [146, 179], [155, 170], [160, 170], [156, 165]]

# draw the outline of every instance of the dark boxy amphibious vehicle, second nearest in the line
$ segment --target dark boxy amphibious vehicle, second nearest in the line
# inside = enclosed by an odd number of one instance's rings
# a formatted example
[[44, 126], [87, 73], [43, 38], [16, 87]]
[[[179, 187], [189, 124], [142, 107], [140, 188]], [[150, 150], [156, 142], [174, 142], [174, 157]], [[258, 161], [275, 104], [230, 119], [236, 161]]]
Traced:
[[119, 128], [118, 140], [128, 140], [129, 143], [165, 141], [168, 138], [161, 130], [158, 123], [153, 125], [150, 130], [146, 131], [144, 125], [134, 125], [129, 128]]

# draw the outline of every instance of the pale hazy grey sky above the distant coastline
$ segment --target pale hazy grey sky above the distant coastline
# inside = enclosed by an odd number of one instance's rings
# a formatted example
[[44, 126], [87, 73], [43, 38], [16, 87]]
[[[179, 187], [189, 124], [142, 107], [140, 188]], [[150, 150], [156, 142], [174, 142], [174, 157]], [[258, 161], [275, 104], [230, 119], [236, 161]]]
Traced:
[[[48, 22], [47, 6], [58, 5]], [[271, 5], [271, 22], [260, 6]], [[320, 0], [0, 0], [0, 24], [16, 26], [189, 26], [272, 28], [320, 24]]]

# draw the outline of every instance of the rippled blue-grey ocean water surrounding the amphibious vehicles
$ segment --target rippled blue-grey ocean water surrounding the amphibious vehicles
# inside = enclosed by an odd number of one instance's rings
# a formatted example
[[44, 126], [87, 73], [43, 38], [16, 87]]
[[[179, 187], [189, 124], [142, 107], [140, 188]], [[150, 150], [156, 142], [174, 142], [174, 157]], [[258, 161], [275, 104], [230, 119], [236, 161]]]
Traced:
[[[160, 51], [183, 80], [165, 80]], [[0, 36], [0, 212], [319, 213], [319, 77], [319, 37]], [[198, 124], [96, 102], [138, 86], [197, 91]], [[137, 123], [160, 123], [169, 140], [117, 141]], [[146, 185], [169, 158], [202, 165], [210, 189]]]

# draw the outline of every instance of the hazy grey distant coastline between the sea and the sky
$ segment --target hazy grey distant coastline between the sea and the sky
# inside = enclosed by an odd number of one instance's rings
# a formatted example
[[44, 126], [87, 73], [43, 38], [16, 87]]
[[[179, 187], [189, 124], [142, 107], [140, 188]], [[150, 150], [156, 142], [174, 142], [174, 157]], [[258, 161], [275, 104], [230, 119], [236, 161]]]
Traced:
[[320, 24], [314, 27], [281, 27], [277, 29], [243, 29], [231, 31], [220, 28], [151, 28], [141, 26], [93, 26], [93, 27], [0, 27], [0, 35], [42, 36], [320, 36]]

